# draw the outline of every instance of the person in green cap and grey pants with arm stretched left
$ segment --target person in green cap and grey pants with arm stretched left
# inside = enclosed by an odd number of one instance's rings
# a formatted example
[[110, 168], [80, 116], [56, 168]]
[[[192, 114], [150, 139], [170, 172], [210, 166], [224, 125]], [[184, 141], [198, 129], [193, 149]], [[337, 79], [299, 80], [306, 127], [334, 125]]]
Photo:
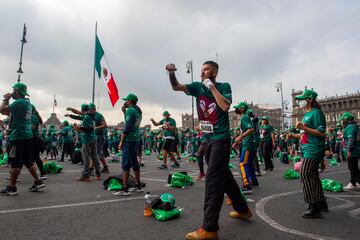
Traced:
[[66, 114], [65, 117], [81, 120], [80, 126], [76, 126], [75, 128], [77, 131], [81, 131], [81, 156], [83, 159], [82, 174], [78, 178], [78, 181], [90, 181], [91, 160], [93, 161], [93, 164], [95, 166], [95, 179], [101, 180], [100, 160], [96, 149], [95, 122], [93, 119], [93, 115], [90, 112], [90, 107], [88, 104], [84, 103], [81, 105], [81, 112], [71, 107], [68, 107], [67, 110], [72, 111], [77, 115]]

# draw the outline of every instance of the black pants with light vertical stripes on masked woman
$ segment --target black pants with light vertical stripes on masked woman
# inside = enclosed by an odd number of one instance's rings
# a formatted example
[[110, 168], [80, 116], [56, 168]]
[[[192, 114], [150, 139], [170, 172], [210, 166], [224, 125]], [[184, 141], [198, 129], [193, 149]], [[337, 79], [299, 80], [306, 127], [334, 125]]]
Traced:
[[319, 177], [319, 160], [304, 158], [300, 168], [301, 185], [306, 203], [317, 204], [325, 200]]

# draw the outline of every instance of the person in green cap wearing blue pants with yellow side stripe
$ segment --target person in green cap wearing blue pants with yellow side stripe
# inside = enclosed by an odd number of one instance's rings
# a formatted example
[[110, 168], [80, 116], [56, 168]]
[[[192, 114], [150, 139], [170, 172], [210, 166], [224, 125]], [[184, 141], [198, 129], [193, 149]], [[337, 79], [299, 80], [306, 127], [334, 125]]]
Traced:
[[243, 193], [250, 193], [252, 191], [252, 186], [258, 187], [259, 182], [257, 181], [255, 175], [255, 167], [253, 159], [256, 157], [256, 146], [254, 141], [254, 124], [251, 121], [246, 112], [249, 109], [249, 106], [245, 102], [241, 102], [234, 106], [235, 113], [241, 115], [240, 118], [240, 136], [236, 137], [233, 147], [235, 148], [240, 142], [241, 145], [241, 154], [239, 158], [239, 166], [241, 177], [243, 181], [243, 187], [241, 191]]

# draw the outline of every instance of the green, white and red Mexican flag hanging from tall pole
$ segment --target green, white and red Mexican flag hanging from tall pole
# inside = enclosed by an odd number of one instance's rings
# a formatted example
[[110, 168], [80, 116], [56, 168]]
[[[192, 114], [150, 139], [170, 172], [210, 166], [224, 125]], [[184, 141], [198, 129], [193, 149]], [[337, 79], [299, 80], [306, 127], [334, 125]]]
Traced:
[[104, 81], [108, 90], [111, 105], [114, 107], [119, 100], [119, 93], [98, 36], [96, 36], [95, 43], [95, 69], [99, 79]]

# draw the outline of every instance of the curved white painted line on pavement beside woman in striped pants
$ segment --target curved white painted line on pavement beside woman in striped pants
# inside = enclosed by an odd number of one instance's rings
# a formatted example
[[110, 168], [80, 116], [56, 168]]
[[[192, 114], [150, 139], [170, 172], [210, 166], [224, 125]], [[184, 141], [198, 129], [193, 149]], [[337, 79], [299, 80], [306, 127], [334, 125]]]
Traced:
[[282, 225], [280, 225], [279, 223], [277, 223], [276, 221], [274, 221], [273, 219], [271, 219], [266, 213], [265, 213], [265, 205], [266, 203], [268, 203], [270, 200], [272, 199], [276, 199], [279, 197], [284, 197], [284, 196], [289, 196], [292, 194], [296, 194], [296, 193], [300, 193], [302, 192], [301, 190], [297, 190], [297, 191], [292, 191], [292, 192], [286, 192], [286, 193], [280, 193], [280, 194], [274, 194], [265, 198], [260, 199], [259, 202], [256, 203], [256, 214], [267, 224], [269, 224], [270, 226], [272, 226], [273, 228], [280, 230], [282, 232], [286, 232], [286, 233], [291, 233], [291, 234], [295, 234], [298, 236], [302, 236], [302, 237], [306, 237], [306, 238], [310, 238], [310, 239], [317, 239], [317, 240], [339, 240], [341, 238], [332, 238], [332, 237], [325, 237], [325, 236], [321, 236], [321, 235], [317, 235], [317, 234], [311, 234], [311, 233], [306, 233], [306, 232], [302, 232], [299, 230], [295, 230], [295, 229], [291, 229], [288, 227], [284, 227]]

